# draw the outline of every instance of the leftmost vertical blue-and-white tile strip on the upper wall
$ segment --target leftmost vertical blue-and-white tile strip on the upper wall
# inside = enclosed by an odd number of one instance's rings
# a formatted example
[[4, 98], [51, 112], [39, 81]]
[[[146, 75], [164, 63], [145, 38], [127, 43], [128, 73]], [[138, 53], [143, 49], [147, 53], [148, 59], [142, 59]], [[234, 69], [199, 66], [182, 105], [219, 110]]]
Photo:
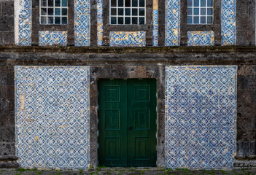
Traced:
[[32, 1], [19, 0], [18, 2], [18, 44], [28, 46], [31, 45]]

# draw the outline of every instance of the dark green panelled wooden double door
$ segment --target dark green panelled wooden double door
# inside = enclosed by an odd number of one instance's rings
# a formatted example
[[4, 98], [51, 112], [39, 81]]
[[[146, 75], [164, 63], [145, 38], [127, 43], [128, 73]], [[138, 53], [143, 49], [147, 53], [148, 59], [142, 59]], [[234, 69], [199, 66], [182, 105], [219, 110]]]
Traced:
[[98, 163], [156, 166], [155, 79], [98, 82]]

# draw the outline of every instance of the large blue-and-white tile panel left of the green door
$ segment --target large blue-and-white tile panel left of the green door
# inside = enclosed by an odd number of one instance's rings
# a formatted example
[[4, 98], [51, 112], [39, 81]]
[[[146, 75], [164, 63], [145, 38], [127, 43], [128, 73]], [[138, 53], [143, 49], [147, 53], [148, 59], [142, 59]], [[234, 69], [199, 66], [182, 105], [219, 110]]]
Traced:
[[88, 66], [15, 66], [16, 154], [23, 168], [88, 168]]

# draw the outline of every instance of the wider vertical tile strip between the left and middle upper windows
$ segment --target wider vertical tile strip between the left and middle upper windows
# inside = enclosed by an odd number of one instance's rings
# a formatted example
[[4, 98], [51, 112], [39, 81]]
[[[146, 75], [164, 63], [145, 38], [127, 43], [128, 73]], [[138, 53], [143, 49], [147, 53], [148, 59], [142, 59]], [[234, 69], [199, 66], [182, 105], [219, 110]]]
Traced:
[[74, 45], [90, 46], [90, 1], [74, 2]]

